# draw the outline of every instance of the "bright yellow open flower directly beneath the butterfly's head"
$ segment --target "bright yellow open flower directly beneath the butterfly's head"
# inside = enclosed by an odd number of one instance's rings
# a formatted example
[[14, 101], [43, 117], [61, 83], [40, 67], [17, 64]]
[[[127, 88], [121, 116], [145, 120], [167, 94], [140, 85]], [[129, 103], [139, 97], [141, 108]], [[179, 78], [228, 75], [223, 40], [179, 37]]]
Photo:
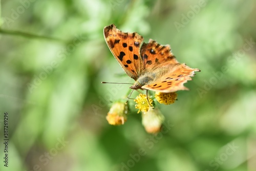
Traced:
[[135, 104], [135, 108], [139, 109], [138, 113], [140, 111], [147, 112], [148, 110], [150, 110], [150, 108], [154, 108], [153, 100], [150, 97], [148, 97], [148, 100], [147, 100], [147, 97], [145, 94], [139, 94], [136, 97], [136, 99], [134, 99], [134, 101], [137, 103]]

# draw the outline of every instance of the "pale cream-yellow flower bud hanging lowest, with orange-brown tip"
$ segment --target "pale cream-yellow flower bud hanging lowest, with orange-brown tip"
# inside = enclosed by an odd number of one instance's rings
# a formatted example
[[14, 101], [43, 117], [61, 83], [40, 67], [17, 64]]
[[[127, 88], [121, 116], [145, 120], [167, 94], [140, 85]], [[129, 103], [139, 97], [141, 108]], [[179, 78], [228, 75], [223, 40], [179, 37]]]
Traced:
[[164, 116], [159, 109], [151, 109], [148, 112], [142, 114], [142, 124], [145, 127], [147, 133], [155, 134], [161, 130]]

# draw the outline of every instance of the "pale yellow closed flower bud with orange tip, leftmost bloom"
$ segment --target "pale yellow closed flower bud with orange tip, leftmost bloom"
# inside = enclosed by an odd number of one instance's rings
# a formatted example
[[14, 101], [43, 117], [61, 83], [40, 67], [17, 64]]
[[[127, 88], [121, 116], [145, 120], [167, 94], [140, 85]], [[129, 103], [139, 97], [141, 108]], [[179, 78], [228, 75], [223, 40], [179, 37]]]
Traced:
[[115, 102], [106, 116], [106, 120], [108, 120], [111, 125], [121, 125], [124, 124], [127, 120], [128, 106], [126, 103], [117, 101]]

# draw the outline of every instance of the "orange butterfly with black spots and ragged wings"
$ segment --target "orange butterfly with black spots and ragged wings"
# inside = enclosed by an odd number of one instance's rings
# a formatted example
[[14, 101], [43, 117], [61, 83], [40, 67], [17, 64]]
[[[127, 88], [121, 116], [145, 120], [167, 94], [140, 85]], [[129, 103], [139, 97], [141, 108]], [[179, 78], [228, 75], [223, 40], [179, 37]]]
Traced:
[[146, 44], [136, 32], [122, 32], [112, 24], [104, 27], [103, 34], [124, 72], [136, 81], [130, 89], [162, 93], [188, 90], [183, 84], [200, 71], [179, 63], [169, 45], [152, 39]]

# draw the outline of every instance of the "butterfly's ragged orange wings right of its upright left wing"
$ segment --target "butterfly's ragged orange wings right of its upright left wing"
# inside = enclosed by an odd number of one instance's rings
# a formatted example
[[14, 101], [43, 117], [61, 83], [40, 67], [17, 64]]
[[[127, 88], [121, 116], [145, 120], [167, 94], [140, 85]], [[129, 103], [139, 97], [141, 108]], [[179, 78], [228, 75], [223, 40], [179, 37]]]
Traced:
[[191, 76], [194, 76], [195, 71], [200, 71], [179, 63], [170, 51], [169, 45], [160, 45], [152, 39], [148, 44], [143, 43], [140, 53], [145, 65], [145, 73], [151, 73], [147, 74], [148, 76], [155, 76], [152, 81], [143, 85], [142, 89], [163, 93], [188, 90], [183, 84], [192, 79]]

